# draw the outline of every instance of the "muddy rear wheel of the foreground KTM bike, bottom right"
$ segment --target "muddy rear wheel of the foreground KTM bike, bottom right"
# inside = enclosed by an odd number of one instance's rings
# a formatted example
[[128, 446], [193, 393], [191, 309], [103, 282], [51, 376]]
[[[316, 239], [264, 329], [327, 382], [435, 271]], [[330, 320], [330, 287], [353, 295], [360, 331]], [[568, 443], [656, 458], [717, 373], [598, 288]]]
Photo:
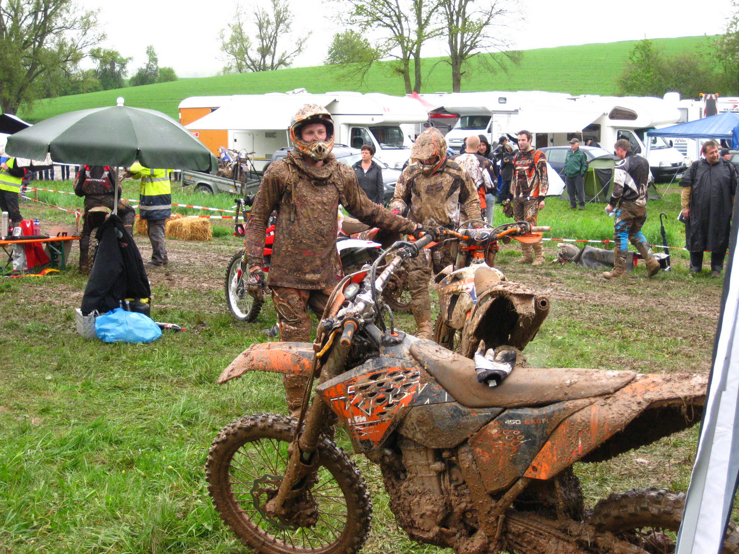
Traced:
[[[650, 554], [675, 552], [685, 494], [655, 487], [612, 494], [598, 502], [586, 522]], [[729, 523], [721, 554], [739, 553], [739, 532]]]

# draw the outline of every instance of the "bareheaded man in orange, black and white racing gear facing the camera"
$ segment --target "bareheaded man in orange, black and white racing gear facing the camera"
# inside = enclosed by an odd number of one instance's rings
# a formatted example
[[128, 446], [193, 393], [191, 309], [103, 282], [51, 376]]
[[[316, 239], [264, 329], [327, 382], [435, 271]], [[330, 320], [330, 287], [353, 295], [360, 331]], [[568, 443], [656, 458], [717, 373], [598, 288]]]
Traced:
[[[525, 220], [531, 225], [537, 225], [539, 210], [544, 209], [544, 199], [549, 190], [547, 158], [544, 152], [531, 146], [531, 133], [529, 131], [519, 132], [518, 148], [518, 152], [513, 159], [513, 178], [511, 179], [511, 190], [508, 193], [506, 204], [511, 203], [516, 221]], [[533, 256], [531, 250], [534, 250]], [[522, 242], [521, 253], [520, 259], [517, 259], [514, 263], [542, 265], [544, 263], [542, 239], [533, 244]]]

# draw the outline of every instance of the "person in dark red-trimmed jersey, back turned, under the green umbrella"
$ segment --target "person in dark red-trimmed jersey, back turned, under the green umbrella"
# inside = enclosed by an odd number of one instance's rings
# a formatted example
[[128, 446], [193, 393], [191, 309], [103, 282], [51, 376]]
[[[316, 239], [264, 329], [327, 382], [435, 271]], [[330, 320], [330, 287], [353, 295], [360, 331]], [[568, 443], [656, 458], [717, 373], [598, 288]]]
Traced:
[[[80, 271], [90, 272], [89, 244], [92, 225], [90, 211], [92, 208], [109, 208], [113, 210], [115, 185], [118, 182], [115, 173], [102, 165], [84, 165], [80, 168], [75, 180], [74, 191], [77, 196], [84, 197], [84, 214], [82, 216], [82, 232], [80, 233]], [[123, 189], [118, 185], [118, 217], [133, 236], [134, 216], [136, 211], [128, 202], [120, 199]]]

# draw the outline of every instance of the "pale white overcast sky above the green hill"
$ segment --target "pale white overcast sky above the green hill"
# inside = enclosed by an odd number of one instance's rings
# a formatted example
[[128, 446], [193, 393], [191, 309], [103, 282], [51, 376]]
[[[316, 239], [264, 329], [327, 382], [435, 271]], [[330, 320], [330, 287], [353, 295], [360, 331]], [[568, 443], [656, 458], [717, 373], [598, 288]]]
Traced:
[[[371, 0], [367, 0], [371, 2]], [[265, 0], [242, 1], [254, 5]], [[106, 47], [134, 58], [129, 74], [146, 63], [146, 47], [154, 45], [160, 66], [174, 67], [180, 77], [208, 77], [224, 66], [219, 59], [218, 33], [228, 24], [235, 0], [180, 2], [162, 0], [78, 0], [86, 9], [100, 9]], [[296, 21], [310, 25], [313, 35], [297, 66], [321, 64], [333, 34], [339, 29], [323, 18], [323, 0], [291, 0]], [[512, 33], [515, 47], [545, 48], [566, 44], [590, 44], [723, 33], [731, 0], [528, 0], [525, 23]], [[619, 10], [619, 6], [623, 8]], [[710, 6], [709, 10], [704, 6]], [[342, 27], [341, 30], [344, 30]], [[442, 55], [429, 49], [424, 55]]]

